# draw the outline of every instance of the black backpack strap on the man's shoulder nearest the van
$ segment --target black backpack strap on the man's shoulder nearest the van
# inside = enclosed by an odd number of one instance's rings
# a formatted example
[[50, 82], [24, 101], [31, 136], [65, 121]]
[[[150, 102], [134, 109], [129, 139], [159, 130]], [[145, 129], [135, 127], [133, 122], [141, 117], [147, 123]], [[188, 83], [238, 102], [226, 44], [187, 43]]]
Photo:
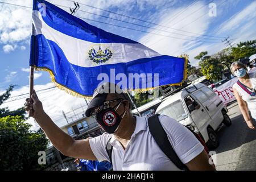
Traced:
[[180, 158], [177, 156], [174, 148], [172, 148], [166, 131], [164, 131], [158, 116], [159, 114], [155, 114], [148, 118], [148, 127], [152, 137], [155, 139], [155, 142], [158, 144], [164, 154], [167, 155], [167, 157], [177, 166], [177, 168], [188, 170], [187, 166], [185, 166], [185, 164], [183, 164]]

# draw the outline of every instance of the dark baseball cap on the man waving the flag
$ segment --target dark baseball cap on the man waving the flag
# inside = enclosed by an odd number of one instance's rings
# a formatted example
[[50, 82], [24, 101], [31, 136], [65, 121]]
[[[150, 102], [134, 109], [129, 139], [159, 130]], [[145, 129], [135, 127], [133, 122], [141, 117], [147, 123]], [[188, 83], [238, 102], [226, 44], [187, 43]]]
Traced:
[[103, 105], [109, 93], [122, 93], [123, 90], [117, 84], [104, 82], [98, 86], [93, 92], [93, 99], [90, 101], [88, 108], [85, 111], [86, 117], [90, 117], [90, 113], [94, 108]]

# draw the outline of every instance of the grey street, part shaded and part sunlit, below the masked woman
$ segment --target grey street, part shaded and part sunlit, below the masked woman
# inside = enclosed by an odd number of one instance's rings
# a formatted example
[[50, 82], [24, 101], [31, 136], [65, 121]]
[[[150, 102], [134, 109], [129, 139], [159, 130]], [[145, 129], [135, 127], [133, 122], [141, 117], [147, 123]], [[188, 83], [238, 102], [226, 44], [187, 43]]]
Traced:
[[218, 131], [217, 170], [256, 170], [256, 131], [243, 122], [237, 102], [228, 106], [230, 127]]

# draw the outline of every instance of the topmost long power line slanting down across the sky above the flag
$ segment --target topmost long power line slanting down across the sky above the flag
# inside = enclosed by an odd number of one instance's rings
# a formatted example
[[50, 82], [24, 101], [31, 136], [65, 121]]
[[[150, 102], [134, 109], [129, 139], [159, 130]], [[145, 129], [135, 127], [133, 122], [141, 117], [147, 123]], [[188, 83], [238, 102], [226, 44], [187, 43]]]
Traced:
[[[65, 1], [73, 2], [73, 1], [71, 1], [71, 0], [65, 0]], [[95, 6], [91, 6], [91, 5], [86, 5], [85, 3], [79, 2], [79, 4], [80, 4], [80, 5], [84, 5], [84, 6], [88, 6], [88, 7], [92, 7], [93, 9], [98, 9], [98, 10], [105, 11], [105, 12], [108, 12], [108, 13], [112, 13], [112, 14], [116, 14], [116, 15], [119, 15], [119, 16], [123, 16], [123, 17], [126, 17], [126, 18], [131, 18], [131, 19], [139, 20], [139, 21], [144, 22], [144, 23], [150, 23], [150, 24], [154, 24], [154, 25], [160, 26], [160, 27], [171, 28], [171, 27], [163, 26], [162, 24], [152, 23], [152, 22], [148, 22], [148, 21], [146, 21], [146, 20], [134, 18], [134, 17], [132, 17], [132, 16], [127, 16], [127, 15], [115, 13], [115, 12], [113, 12], [113, 11], [104, 10], [104, 9], [101, 9], [101, 8], [98, 8], [98, 7], [95, 7]], [[190, 34], [201, 35], [201, 36], [210, 36], [210, 37], [215, 37], [215, 38], [224, 38], [223, 36], [213, 36], [213, 35], [206, 35], [206, 34], [197, 34], [197, 33], [189, 32], [189, 31], [185, 31], [185, 30], [179, 30], [179, 29], [177, 29], [177, 28], [171, 28], [171, 29], [177, 30], [177, 31], [187, 32], [187, 33], [190, 33]]]

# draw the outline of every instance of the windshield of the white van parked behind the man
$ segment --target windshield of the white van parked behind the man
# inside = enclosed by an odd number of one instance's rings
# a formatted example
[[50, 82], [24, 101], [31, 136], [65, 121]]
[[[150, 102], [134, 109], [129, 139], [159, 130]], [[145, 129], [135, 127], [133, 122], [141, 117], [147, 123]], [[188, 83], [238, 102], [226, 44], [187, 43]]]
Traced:
[[174, 118], [176, 121], [181, 121], [182, 119], [188, 117], [180, 100], [164, 107], [163, 109], [159, 110], [158, 113], [168, 115], [168, 117]]

